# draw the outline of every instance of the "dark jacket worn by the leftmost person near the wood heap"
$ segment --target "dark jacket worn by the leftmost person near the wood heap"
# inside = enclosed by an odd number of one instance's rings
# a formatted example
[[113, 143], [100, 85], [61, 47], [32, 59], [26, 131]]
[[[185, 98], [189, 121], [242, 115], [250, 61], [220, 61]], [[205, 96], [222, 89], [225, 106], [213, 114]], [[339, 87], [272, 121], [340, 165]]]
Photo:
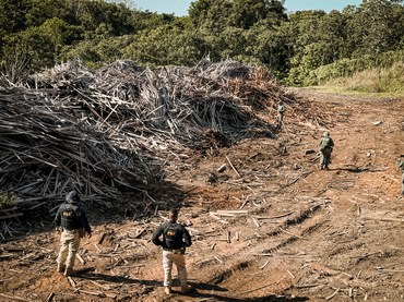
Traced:
[[[66, 212], [73, 212], [73, 218], [69, 220], [64, 219], [62, 216]], [[68, 230], [84, 229], [87, 233], [92, 232], [84, 209], [75, 202], [66, 202], [60, 205], [55, 217], [55, 225]]]

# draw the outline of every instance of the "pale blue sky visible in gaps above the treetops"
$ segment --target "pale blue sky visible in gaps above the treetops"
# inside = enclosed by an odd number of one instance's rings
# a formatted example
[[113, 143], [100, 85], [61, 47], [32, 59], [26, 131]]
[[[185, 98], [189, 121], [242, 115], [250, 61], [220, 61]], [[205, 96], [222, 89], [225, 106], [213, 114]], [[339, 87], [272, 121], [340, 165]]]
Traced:
[[[187, 15], [192, 0], [130, 0], [127, 1], [138, 10], [148, 10], [157, 13], [174, 13], [177, 16]], [[286, 0], [288, 12], [307, 10], [341, 11], [346, 5], [359, 5], [361, 0]]]

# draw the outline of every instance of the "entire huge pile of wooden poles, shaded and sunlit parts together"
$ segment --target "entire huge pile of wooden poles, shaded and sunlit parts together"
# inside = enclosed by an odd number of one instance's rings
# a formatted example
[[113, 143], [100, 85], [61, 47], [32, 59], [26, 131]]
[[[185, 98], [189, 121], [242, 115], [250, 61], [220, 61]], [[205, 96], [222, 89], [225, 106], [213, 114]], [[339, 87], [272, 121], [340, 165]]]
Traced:
[[72, 61], [23, 84], [5, 78], [0, 190], [29, 209], [55, 209], [70, 190], [105, 207], [122, 195], [154, 201], [167, 166], [246, 137], [275, 137], [270, 121], [281, 100], [299, 119], [308, 111], [266, 71], [231, 60], [154, 70]]

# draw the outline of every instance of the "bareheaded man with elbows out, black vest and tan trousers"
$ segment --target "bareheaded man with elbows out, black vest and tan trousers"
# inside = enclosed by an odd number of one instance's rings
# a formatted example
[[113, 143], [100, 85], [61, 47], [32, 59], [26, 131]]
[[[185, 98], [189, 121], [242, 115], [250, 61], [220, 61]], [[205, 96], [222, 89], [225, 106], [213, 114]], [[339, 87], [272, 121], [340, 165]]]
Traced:
[[[186, 227], [178, 224], [177, 219], [178, 209], [170, 209], [168, 221], [162, 224], [152, 237], [153, 243], [163, 247], [164, 291], [166, 294], [171, 293], [173, 263], [177, 266], [181, 291], [191, 290], [191, 287], [187, 285], [187, 267], [183, 254], [186, 247], [191, 246], [192, 241]], [[159, 239], [161, 235], [163, 235], [163, 240]]]

